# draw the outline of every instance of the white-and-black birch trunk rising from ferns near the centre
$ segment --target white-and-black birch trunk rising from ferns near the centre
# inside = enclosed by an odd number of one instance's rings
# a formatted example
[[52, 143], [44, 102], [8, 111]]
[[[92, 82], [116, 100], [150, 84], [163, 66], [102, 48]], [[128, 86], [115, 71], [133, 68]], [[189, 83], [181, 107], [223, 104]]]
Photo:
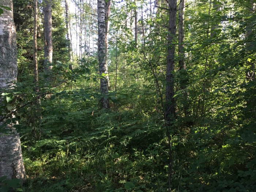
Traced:
[[109, 99], [105, 98], [108, 94], [108, 65], [106, 63], [106, 23], [105, 23], [105, 0], [98, 0], [98, 59], [99, 75], [105, 74], [100, 79], [101, 82], [101, 99], [102, 108], [109, 108]]

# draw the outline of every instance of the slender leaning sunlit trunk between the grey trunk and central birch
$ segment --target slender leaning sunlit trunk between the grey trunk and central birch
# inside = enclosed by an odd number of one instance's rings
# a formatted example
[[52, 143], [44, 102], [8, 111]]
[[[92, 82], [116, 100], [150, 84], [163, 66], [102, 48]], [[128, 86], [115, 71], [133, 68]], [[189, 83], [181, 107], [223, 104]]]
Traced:
[[[71, 33], [69, 30], [69, 26], [70, 26], [70, 19], [69, 19], [69, 8], [68, 8], [68, 0], [64, 0], [65, 1], [65, 24], [66, 24], [66, 29], [67, 29], [67, 39], [68, 39], [68, 57], [69, 57], [69, 61], [72, 62], [73, 58], [72, 58], [72, 44], [71, 44]], [[72, 69], [72, 65], [69, 65], [69, 68]]]

